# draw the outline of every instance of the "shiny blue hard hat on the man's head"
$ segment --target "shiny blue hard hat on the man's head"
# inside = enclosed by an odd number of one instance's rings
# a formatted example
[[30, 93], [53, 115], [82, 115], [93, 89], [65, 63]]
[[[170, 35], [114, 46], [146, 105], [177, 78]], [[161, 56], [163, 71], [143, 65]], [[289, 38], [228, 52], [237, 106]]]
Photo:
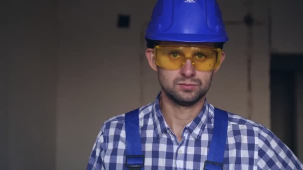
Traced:
[[216, 0], [158, 0], [145, 38], [182, 42], [228, 41]]

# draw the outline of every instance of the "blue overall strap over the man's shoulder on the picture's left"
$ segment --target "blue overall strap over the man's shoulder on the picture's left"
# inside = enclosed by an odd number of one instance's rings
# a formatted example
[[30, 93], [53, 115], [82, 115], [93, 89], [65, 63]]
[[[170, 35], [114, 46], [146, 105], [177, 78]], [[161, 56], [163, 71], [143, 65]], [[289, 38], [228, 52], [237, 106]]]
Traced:
[[125, 114], [125, 134], [126, 167], [128, 167], [129, 170], [143, 170], [144, 155], [141, 148], [139, 109]]

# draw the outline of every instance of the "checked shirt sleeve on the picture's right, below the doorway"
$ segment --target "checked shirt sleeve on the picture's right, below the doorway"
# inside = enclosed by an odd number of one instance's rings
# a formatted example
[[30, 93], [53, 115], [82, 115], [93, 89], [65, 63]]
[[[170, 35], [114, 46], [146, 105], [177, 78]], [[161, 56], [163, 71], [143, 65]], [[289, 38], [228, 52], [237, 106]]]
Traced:
[[259, 170], [303, 170], [303, 165], [294, 153], [269, 129], [259, 131]]

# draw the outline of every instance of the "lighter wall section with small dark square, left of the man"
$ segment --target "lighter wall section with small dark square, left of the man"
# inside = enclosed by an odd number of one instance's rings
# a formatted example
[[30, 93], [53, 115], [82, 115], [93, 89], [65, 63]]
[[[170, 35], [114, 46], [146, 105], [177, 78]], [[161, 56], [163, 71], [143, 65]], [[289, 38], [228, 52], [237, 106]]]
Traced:
[[[140, 32], [152, 9], [139, 6], [148, 4], [61, 1], [57, 170], [84, 169], [102, 122], [140, 106]], [[116, 27], [119, 13], [131, 15], [129, 29]]]

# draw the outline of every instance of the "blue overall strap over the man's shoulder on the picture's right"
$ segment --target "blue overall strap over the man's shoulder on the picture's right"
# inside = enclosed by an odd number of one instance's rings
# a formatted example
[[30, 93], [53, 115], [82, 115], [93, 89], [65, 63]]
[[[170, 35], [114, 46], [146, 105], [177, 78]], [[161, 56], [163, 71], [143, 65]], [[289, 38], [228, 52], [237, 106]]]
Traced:
[[214, 129], [207, 161], [204, 170], [223, 170], [224, 151], [227, 139], [228, 114], [224, 110], [215, 108]]

